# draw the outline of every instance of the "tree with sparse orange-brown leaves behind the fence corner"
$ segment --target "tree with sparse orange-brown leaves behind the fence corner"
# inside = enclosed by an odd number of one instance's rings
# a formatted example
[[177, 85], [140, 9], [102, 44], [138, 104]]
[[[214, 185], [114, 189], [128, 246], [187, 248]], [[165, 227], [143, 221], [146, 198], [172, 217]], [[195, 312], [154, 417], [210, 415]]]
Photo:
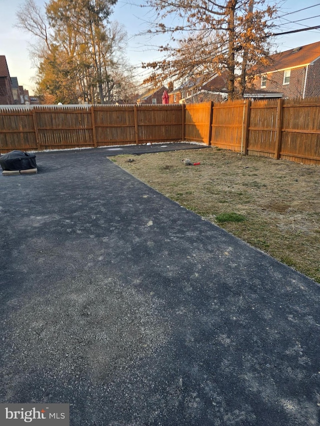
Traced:
[[[147, 3], [156, 12], [155, 26], [149, 32], [167, 34], [170, 41], [159, 47], [164, 59], [143, 63], [153, 70], [145, 82], [193, 80], [196, 87], [223, 73], [228, 98], [233, 99], [241, 97], [250, 85], [254, 67], [268, 62], [276, 5], [266, 5], [265, 0]], [[167, 23], [173, 15], [178, 16], [178, 25]]]

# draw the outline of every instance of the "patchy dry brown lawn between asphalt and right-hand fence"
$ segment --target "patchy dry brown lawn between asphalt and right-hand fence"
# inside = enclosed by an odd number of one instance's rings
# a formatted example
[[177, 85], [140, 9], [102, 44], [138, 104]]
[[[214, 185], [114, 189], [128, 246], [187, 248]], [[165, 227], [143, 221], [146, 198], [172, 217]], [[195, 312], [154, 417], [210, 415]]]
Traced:
[[[183, 158], [200, 162], [185, 166]], [[111, 158], [180, 205], [320, 283], [320, 167], [215, 147]], [[128, 161], [133, 160], [133, 161]], [[236, 213], [242, 221], [221, 222]], [[235, 216], [237, 217], [237, 216]]]

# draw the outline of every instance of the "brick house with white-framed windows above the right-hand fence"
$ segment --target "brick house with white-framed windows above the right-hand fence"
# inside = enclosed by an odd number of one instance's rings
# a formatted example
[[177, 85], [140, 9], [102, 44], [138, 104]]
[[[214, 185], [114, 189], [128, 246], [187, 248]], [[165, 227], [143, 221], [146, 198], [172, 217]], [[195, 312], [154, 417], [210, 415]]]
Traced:
[[270, 56], [254, 86], [261, 92], [283, 93], [284, 98], [320, 96], [320, 41]]

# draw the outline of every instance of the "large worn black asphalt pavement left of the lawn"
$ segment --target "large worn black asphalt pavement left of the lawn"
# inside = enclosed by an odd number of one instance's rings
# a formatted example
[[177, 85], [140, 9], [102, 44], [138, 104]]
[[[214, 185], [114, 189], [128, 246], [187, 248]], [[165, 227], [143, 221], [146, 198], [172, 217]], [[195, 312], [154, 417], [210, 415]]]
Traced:
[[319, 425], [319, 286], [105, 149], [0, 176], [0, 402], [70, 425]]

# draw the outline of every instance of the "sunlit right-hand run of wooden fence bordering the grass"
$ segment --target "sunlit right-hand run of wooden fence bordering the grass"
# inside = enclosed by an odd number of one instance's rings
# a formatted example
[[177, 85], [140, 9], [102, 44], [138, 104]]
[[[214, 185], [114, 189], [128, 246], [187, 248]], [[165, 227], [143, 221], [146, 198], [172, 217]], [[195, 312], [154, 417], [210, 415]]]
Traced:
[[245, 155], [320, 165], [320, 98], [186, 105], [184, 137]]

